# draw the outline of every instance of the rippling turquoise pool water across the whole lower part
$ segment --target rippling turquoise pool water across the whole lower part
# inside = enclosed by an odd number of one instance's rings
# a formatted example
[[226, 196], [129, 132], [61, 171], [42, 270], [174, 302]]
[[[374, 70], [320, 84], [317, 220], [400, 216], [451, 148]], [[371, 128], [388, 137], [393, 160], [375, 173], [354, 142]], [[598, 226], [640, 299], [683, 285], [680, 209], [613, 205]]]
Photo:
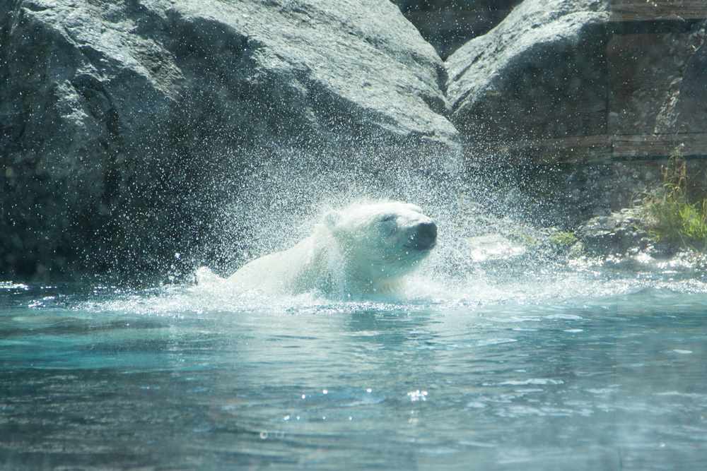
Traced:
[[707, 286], [676, 273], [370, 302], [4, 282], [0, 469], [702, 470]]

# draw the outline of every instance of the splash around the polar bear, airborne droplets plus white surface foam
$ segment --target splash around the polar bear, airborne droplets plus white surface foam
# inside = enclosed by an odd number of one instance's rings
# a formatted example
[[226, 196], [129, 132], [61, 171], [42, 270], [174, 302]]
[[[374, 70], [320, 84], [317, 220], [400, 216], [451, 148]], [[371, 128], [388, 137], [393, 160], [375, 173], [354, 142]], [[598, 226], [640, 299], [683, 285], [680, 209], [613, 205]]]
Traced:
[[[395, 298], [358, 300], [346, 304], [318, 297], [269, 297], [237, 293], [201, 273], [191, 282], [133, 292], [111, 299], [108, 310], [135, 311], [321, 311], [385, 306], [481, 306], [506, 302], [542, 302], [571, 297], [603, 297], [645, 287], [680, 292], [704, 290], [701, 275], [690, 261], [624, 261], [557, 254], [525, 244], [539, 239], [542, 228], [523, 224], [512, 185], [491, 188], [469, 174], [415, 169], [404, 162], [373, 162], [363, 168], [337, 160], [330, 165], [311, 159], [261, 165], [234, 181], [214, 181], [219, 194], [204, 259], [219, 277], [226, 277], [258, 256], [281, 251], [306, 237], [322, 215], [354, 203], [404, 201], [419, 205], [438, 225], [438, 245], [409, 276]], [[375, 167], [375, 168], [374, 168]], [[525, 211], [525, 210], [524, 210]], [[541, 220], [537, 215], [536, 220]], [[525, 240], [525, 242], [524, 242]], [[611, 262], [611, 261], [609, 261]], [[682, 266], [680, 265], [682, 263]], [[199, 263], [201, 265], [201, 263]], [[626, 265], [626, 263], [624, 263]], [[155, 293], [158, 293], [156, 295]]]

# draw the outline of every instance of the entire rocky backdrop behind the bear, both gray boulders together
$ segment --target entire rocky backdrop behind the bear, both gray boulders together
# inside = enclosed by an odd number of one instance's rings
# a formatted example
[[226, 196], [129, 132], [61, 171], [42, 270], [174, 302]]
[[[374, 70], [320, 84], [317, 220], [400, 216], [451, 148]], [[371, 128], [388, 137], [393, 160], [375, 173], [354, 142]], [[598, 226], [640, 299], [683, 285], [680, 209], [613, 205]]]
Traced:
[[525, 0], [443, 63], [388, 1], [0, 0], [0, 275], [186, 273], [315, 186], [426, 197], [462, 162], [489, 207], [609, 217], [707, 113], [699, 13], [617, 5]]

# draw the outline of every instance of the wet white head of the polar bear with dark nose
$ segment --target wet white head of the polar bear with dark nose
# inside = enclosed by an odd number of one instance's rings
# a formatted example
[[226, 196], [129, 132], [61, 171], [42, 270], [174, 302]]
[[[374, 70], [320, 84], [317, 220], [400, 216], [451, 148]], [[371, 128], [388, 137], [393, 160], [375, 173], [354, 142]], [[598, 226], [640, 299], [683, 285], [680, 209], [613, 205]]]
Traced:
[[437, 243], [435, 222], [408, 203], [355, 205], [328, 213], [324, 223], [362, 281], [399, 278]]

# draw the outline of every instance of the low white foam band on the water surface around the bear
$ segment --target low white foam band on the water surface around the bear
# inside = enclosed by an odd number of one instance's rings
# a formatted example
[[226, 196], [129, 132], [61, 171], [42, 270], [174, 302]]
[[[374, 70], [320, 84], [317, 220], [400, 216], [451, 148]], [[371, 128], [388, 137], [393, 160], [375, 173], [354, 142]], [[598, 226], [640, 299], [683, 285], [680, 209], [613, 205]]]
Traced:
[[[444, 250], [444, 248], [442, 248]], [[375, 309], [477, 309], [484, 306], [529, 306], [553, 304], [578, 299], [603, 299], [626, 294], [641, 296], [642, 292], [670, 296], [670, 293], [690, 294], [707, 292], [707, 284], [699, 271], [683, 270], [677, 274], [664, 263], [655, 263], [650, 271], [607, 270], [592, 266], [592, 261], [554, 263], [543, 269], [524, 273], [492, 273], [475, 270], [467, 278], [445, 275], [440, 263], [449, 256], [433, 257], [421, 264], [411, 275], [404, 289], [396, 294], [371, 295], [365, 298], [329, 299], [319, 292], [296, 296], [273, 295], [257, 290], [238, 292], [225, 280], [208, 269], [201, 269], [198, 283], [165, 285], [148, 290], [105, 289], [109, 299], [97, 297], [83, 302], [76, 309], [88, 311], [115, 311], [143, 314], [181, 315], [205, 312], [259, 313], [334, 313]], [[546, 263], [539, 261], [538, 263]], [[556, 270], [556, 271], [553, 271]], [[662, 294], [660, 294], [662, 293]], [[41, 303], [37, 300], [37, 303]], [[37, 304], [39, 305], [39, 304]]]

